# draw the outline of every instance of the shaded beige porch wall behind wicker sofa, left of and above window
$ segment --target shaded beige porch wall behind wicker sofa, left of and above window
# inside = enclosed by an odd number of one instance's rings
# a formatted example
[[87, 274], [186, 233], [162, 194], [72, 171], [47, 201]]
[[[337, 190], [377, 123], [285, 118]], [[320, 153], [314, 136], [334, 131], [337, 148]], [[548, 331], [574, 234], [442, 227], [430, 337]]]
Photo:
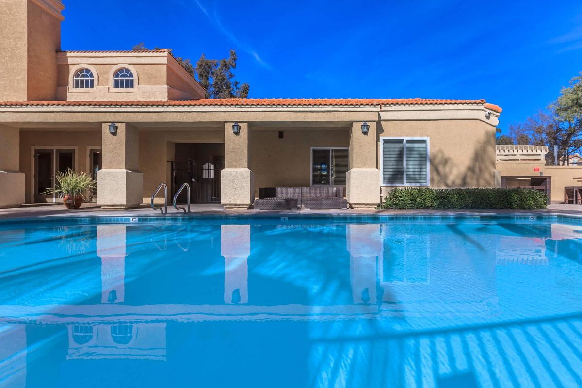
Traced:
[[[280, 130], [282, 139], [278, 137]], [[253, 130], [251, 170], [255, 174], [255, 190], [310, 186], [311, 147], [348, 147], [349, 136], [347, 127]]]

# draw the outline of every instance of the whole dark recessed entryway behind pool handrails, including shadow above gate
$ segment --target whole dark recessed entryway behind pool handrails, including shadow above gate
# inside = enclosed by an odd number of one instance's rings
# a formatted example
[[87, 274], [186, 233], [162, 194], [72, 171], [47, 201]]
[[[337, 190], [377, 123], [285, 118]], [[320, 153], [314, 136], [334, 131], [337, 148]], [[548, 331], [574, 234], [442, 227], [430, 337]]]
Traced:
[[[221, 171], [224, 168], [223, 143], [177, 143], [171, 163], [173, 195], [184, 183], [190, 184], [190, 202], [220, 203]], [[186, 191], [178, 198], [186, 202]]]

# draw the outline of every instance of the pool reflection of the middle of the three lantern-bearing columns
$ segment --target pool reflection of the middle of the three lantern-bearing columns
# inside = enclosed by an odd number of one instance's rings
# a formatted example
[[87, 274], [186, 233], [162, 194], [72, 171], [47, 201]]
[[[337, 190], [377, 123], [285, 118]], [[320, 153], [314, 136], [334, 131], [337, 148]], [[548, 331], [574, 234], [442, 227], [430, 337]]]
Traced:
[[221, 225], [225, 303], [247, 303], [249, 301], [247, 259], [250, 251], [250, 225]]

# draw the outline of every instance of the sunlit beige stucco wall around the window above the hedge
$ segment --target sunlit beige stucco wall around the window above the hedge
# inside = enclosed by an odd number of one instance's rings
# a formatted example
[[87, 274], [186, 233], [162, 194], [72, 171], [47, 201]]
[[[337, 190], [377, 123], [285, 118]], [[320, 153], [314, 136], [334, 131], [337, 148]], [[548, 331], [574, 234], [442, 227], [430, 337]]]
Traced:
[[[493, 187], [495, 127], [480, 120], [382, 121], [381, 137], [430, 138], [431, 187]], [[386, 195], [390, 187], [382, 187]]]

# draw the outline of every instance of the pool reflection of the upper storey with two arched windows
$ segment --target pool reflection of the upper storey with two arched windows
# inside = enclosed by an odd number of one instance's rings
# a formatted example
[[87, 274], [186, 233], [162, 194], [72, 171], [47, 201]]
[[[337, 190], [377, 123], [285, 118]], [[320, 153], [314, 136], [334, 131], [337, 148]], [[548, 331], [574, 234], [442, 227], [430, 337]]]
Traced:
[[166, 359], [166, 323], [69, 325], [67, 359]]

